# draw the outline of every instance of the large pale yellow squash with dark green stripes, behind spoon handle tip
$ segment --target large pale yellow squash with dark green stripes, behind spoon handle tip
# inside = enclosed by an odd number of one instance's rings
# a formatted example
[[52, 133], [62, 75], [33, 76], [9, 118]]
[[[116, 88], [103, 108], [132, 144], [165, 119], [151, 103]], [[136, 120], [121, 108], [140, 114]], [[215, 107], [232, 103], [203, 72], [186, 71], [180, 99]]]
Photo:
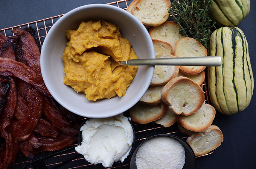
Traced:
[[210, 37], [210, 56], [222, 56], [219, 67], [208, 68], [210, 100], [219, 112], [233, 115], [251, 101], [254, 81], [244, 32], [238, 27], [221, 27]]

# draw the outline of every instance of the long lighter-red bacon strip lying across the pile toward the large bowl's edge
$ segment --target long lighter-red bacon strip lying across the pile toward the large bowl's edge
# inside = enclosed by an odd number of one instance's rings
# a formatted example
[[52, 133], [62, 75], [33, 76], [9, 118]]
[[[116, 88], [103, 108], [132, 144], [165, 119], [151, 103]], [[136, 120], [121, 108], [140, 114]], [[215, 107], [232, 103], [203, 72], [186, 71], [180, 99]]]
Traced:
[[35, 71], [24, 65], [24, 63], [0, 57], [0, 75], [20, 78], [35, 86], [44, 95], [52, 97], [44, 84], [42, 76], [37, 76]]

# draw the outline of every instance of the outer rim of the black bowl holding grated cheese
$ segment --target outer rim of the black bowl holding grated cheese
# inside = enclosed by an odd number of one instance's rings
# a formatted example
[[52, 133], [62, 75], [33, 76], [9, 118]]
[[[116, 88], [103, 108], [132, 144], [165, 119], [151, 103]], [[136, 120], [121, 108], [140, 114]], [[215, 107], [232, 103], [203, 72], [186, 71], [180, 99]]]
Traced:
[[[131, 168], [131, 162], [132, 162], [132, 161], [131, 161], [131, 158], [133, 157], [134, 152], [135, 152], [143, 143], [145, 143], [147, 140], [152, 139], [152, 138], [154, 138], [154, 137], [160, 137], [160, 136], [168, 136], [168, 137], [172, 137], [172, 138], [174, 138], [174, 139], [178, 139], [178, 140], [180, 140], [181, 142], [184, 142], [184, 143], [190, 148], [190, 150], [191, 150], [191, 152], [192, 152], [192, 154], [193, 154], [193, 156], [194, 156], [194, 161], [195, 161], [195, 158], [196, 158], [196, 157], [195, 157], [195, 153], [194, 153], [193, 149], [191, 148], [191, 146], [189, 145], [189, 143], [187, 143], [186, 141], [184, 141], [181, 137], [175, 136], [175, 135], [173, 135], [173, 134], [156, 134], [156, 135], [147, 137], [147, 138], [144, 139], [142, 142], [140, 142], [139, 145], [136, 146], [136, 148], [133, 149], [133, 152], [132, 152], [131, 156], [129, 157], [130, 169], [132, 169], [132, 168]], [[195, 169], [195, 168], [196, 168], [196, 161], [195, 161], [194, 169]]]

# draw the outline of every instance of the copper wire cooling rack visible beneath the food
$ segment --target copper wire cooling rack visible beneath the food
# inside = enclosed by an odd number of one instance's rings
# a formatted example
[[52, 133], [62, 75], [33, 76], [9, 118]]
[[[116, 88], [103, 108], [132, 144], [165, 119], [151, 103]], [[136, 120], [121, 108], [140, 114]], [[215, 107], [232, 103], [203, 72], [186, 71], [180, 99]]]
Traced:
[[[126, 9], [130, 5], [131, 2], [132, 2], [132, 0], [119, 0], [116, 2], [108, 3], [108, 4], [118, 6], [119, 8], [122, 8], [122, 9]], [[15, 36], [11, 32], [12, 29], [25, 28], [25, 27], [31, 26], [36, 30], [35, 37], [38, 39], [38, 42], [39, 42], [40, 46], [42, 47], [42, 44], [44, 42], [44, 38], [47, 35], [47, 32], [50, 30], [50, 28], [53, 26], [53, 24], [59, 18], [61, 18], [63, 15], [64, 14], [58, 15], [55, 17], [45, 18], [42, 20], [37, 20], [34, 22], [26, 23], [26, 24], [20, 24], [17, 26], [8, 27], [5, 29], [0, 29], [0, 32], [3, 33], [8, 38], [11, 36]], [[205, 95], [205, 101], [206, 101], [206, 103], [209, 103], [206, 83], [203, 84], [203, 91], [204, 91], [204, 95]], [[129, 116], [129, 113], [125, 112], [124, 115]], [[179, 137], [183, 138], [184, 140], [186, 140], [186, 138], [188, 137], [180, 132], [176, 123], [174, 125], [172, 125], [171, 127], [167, 127], [167, 128], [165, 128], [161, 125], [158, 125], [156, 123], [153, 123], [153, 122], [151, 122], [149, 124], [133, 123], [133, 127], [134, 127], [134, 130], [136, 133], [135, 147], [142, 140], [146, 139], [147, 137], [153, 136], [155, 134], [173, 134], [175, 136], [179, 136]], [[72, 161], [66, 163], [65, 165], [61, 166], [60, 168], [64, 168], [64, 169], [75, 169], [75, 168], [102, 169], [103, 168], [103, 166], [101, 164], [94, 165], [94, 164], [88, 163], [82, 156], [77, 157], [77, 153], [76, 153], [75, 149], [72, 148], [76, 145], [78, 145], [78, 142], [76, 142], [60, 151], [53, 151], [53, 152], [36, 151], [36, 152], [34, 152], [34, 157], [32, 159], [27, 158], [21, 152], [18, 152], [15, 163], [11, 164], [9, 166], [9, 168], [10, 169], [21, 169], [29, 161], [40, 159], [40, 158], [41, 158], [41, 160], [40, 160], [40, 163], [38, 163], [38, 165], [40, 166], [40, 168], [46, 168], [46, 169], [56, 168], [63, 161], [66, 161], [71, 158], [73, 158]], [[65, 152], [61, 152], [63, 150], [65, 150]], [[55, 155], [55, 153], [58, 153], [58, 152], [59, 152], [59, 154]], [[209, 152], [206, 155], [212, 154], [213, 152], [214, 152], [214, 150]], [[50, 158], [48, 158], [46, 160], [42, 159], [43, 157], [47, 157], [47, 156], [50, 156]], [[201, 157], [201, 156], [197, 156], [197, 157]], [[46, 167], [43, 167], [44, 165]], [[31, 168], [31, 166], [28, 166], [27, 168]], [[123, 163], [114, 164], [111, 168], [112, 169], [116, 169], [116, 168], [128, 169], [129, 168], [128, 160], [126, 159]]]

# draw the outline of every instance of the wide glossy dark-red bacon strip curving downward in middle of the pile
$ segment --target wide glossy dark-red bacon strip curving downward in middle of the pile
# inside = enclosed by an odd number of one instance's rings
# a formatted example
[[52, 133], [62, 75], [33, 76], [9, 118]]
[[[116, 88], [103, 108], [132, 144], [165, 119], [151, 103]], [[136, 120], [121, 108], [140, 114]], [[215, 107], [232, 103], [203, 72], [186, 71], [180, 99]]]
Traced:
[[14, 131], [13, 138], [15, 142], [24, 141], [30, 136], [37, 126], [43, 110], [43, 95], [34, 86], [30, 85], [23, 95], [28, 103], [29, 112], [24, 121], [21, 121]]

